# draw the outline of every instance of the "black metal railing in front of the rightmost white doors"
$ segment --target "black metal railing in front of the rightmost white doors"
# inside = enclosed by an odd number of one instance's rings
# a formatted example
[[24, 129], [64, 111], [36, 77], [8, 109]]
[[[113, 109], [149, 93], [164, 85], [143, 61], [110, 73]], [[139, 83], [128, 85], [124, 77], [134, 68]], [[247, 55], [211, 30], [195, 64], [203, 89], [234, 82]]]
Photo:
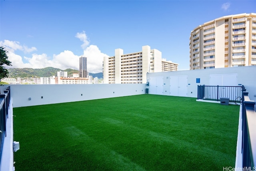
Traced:
[[220, 101], [220, 98], [229, 98], [230, 102], [240, 103], [242, 86], [198, 85], [197, 99]]

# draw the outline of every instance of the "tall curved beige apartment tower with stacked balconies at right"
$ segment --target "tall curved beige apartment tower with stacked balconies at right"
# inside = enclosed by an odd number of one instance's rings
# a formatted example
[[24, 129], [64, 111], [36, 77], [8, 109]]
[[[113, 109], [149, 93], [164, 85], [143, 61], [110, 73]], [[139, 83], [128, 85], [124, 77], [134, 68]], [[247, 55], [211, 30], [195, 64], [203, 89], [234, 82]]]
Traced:
[[190, 34], [190, 70], [256, 65], [256, 13], [223, 16]]

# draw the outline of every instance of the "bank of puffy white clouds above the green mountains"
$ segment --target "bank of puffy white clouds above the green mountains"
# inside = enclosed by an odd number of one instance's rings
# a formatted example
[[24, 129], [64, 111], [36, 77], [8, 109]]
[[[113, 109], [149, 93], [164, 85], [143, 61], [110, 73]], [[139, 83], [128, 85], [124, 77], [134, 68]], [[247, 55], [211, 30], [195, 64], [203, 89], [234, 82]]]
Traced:
[[[85, 32], [77, 33], [76, 38], [79, 38], [83, 44], [84, 50], [83, 56], [87, 57], [87, 69], [91, 73], [102, 72], [103, 57], [107, 56], [102, 53], [96, 45], [89, 45], [88, 38]], [[60, 70], [66, 70], [68, 68], [79, 70], [79, 58], [80, 55], [75, 55], [69, 50], [64, 50], [60, 54], [54, 54], [48, 56], [47, 54], [32, 54], [29, 56], [20, 56], [15, 53], [16, 50], [22, 50], [24, 53], [29, 53], [37, 50], [35, 47], [28, 48], [27, 46], [21, 46], [19, 42], [4, 40], [0, 42], [0, 46], [6, 47], [8, 51], [8, 60], [12, 62], [12, 66], [6, 66], [6, 68], [46, 68], [54, 67]]]

